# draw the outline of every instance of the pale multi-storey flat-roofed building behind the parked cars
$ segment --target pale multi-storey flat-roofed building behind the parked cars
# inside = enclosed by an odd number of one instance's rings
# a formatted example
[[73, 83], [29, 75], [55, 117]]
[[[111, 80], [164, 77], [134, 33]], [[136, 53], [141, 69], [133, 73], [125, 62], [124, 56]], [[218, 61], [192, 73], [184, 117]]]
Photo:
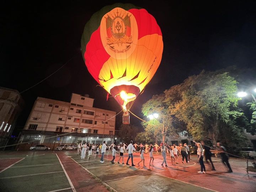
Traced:
[[[69, 102], [37, 97], [19, 143], [59, 144], [114, 141], [116, 112], [93, 107], [94, 98], [72, 94]], [[56, 145], [55, 145], [56, 144]], [[27, 149], [31, 143], [18, 146]]]

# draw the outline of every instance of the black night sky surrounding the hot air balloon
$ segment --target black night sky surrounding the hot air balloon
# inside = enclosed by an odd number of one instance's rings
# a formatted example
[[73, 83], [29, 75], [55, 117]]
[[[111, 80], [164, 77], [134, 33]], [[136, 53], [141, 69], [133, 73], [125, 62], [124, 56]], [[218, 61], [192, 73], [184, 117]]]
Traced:
[[[85, 23], [103, 6], [121, 1], [10, 1], [0, 8], [0, 86], [23, 91], [24, 126], [34, 101], [46, 97], [70, 101], [71, 93], [89, 94], [94, 107], [121, 108], [88, 73], [80, 51]], [[142, 104], [203, 69], [230, 65], [255, 67], [256, 1], [122, 1], [145, 8], [161, 28], [164, 51], [155, 76], [131, 111], [142, 117]], [[121, 121], [121, 116], [117, 117]], [[131, 117], [131, 123], [139, 123]]]

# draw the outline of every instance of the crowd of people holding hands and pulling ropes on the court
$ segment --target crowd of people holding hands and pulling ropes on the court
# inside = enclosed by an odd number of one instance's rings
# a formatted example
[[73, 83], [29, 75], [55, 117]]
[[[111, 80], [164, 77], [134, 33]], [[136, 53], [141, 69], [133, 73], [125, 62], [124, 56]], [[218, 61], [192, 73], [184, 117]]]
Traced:
[[[201, 141], [200, 143], [193, 141], [196, 146], [197, 146], [197, 160], [201, 166], [201, 170], [198, 171], [198, 173], [200, 174], [205, 174], [206, 173], [206, 168], [204, 165], [204, 161], [203, 161], [203, 157], [205, 157], [205, 160], [207, 163], [210, 162], [211, 166], [212, 166], [212, 171], [215, 171], [215, 167], [213, 165], [211, 156], [212, 153], [210, 151], [210, 147], [205, 145], [204, 141]], [[91, 155], [94, 155], [94, 153], [96, 153], [95, 156], [95, 161], [97, 161], [98, 159], [98, 154], [101, 154], [101, 159], [100, 162], [104, 163], [104, 155], [106, 153], [106, 150], [108, 149], [108, 153], [112, 153], [112, 160], [111, 163], [114, 164], [114, 159], [116, 157], [116, 154], [119, 155], [119, 159], [117, 161], [118, 164], [120, 164], [120, 160], [122, 159], [122, 164], [124, 164], [124, 153], [128, 152], [128, 159], [126, 161], [126, 165], [130, 165], [129, 164], [129, 160], [131, 159], [132, 162], [132, 166], [135, 166], [133, 163], [133, 153], [135, 151], [135, 153], [140, 153], [140, 161], [138, 162], [138, 166], [140, 166], [140, 163], [143, 162], [143, 167], [145, 166], [145, 157], [144, 154], [148, 154], [149, 153], [149, 166], [154, 166], [154, 156], [153, 156], [153, 151], [156, 151], [156, 154], [159, 154], [158, 152], [161, 151], [161, 155], [163, 158], [163, 161], [161, 163], [161, 166], [164, 167], [168, 167], [167, 162], [166, 162], [166, 156], [170, 156], [171, 158], [171, 162], [172, 165], [174, 164], [178, 164], [177, 159], [178, 156], [182, 156], [182, 163], [184, 164], [185, 161], [186, 163], [189, 163], [191, 160], [191, 156], [190, 156], [190, 148], [188, 147], [188, 145], [186, 143], [184, 144], [173, 144], [173, 145], [167, 145], [166, 143], [161, 143], [160, 146], [155, 143], [155, 145], [153, 144], [145, 144], [143, 145], [142, 143], [140, 143], [140, 145], [138, 145], [136, 142], [133, 144], [133, 141], [130, 141], [130, 144], [127, 145], [126, 143], [120, 144], [120, 145], [115, 145], [114, 143], [112, 143], [110, 146], [106, 145], [106, 142], [104, 141], [103, 144], [90, 144], [90, 143], [79, 143], [78, 144], [78, 150], [77, 150], [77, 155], [81, 157], [81, 159], [85, 159], [85, 157], [87, 156], [87, 159], [91, 158]], [[224, 146], [222, 146], [221, 143], [217, 143], [217, 150], [219, 151], [219, 154], [222, 158], [222, 162], [223, 164], [228, 167], [228, 171], [227, 172], [233, 172], [230, 164], [228, 162], [228, 154], [225, 153], [226, 149]], [[209, 160], [209, 162], [208, 162]]]

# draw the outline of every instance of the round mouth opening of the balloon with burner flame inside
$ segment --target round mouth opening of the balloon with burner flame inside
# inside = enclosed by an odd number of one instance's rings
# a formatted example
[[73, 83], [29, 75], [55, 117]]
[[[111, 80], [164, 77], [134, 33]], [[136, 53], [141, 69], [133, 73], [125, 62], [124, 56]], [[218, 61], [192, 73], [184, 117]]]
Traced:
[[110, 94], [114, 96], [116, 101], [126, 110], [127, 103], [134, 101], [139, 95], [139, 87], [134, 85], [119, 85], [110, 90]]

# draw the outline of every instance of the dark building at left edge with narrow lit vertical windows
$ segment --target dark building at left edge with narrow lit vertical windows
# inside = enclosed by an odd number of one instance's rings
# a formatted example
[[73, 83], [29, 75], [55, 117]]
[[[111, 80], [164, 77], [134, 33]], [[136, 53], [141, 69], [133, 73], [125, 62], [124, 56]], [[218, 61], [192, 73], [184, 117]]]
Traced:
[[11, 138], [23, 103], [17, 90], [0, 87], [0, 146], [5, 146]]

